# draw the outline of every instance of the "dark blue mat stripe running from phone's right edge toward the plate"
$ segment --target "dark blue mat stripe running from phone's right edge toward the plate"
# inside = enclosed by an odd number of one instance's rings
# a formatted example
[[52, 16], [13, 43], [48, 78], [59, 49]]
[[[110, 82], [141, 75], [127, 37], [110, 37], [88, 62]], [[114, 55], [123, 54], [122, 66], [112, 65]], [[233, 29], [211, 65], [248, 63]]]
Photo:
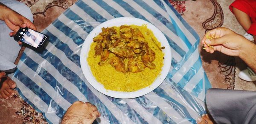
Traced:
[[80, 56], [74, 53], [66, 43], [61, 42], [61, 40], [55, 37], [47, 29], [44, 30], [44, 34], [49, 36], [49, 42], [51, 42], [59, 50], [63, 51], [68, 59], [80, 67]]

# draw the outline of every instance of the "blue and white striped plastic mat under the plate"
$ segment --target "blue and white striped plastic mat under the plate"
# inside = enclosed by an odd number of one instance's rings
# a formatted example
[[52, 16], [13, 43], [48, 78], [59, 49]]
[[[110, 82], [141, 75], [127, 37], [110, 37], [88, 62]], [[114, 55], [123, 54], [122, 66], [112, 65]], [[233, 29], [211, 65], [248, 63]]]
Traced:
[[[84, 39], [97, 25], [116, 17], [152, 23], [171, 46], [172, 67], [165, 81], [139, 98], [114, 99], [99, 93], [80, 68]], [[26, 48], [12, 79], [23, 99], [49, 123], [57, 124], [77, 100], [95, 104], [102, 124], [195, 124], [205, 113], [205, 91], [211, 85], [202, 68], [199, 37], [168, 0], [78, 0], [43, 33], [50, 37], [46, 49], [37, 53]]]

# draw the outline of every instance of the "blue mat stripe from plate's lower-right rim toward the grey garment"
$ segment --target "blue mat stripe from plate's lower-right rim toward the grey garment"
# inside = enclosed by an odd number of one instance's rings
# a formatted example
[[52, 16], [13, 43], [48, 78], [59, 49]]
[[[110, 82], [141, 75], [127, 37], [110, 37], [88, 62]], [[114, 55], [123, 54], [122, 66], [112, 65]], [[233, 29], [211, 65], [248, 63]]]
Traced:
[[195, 110], [199, 115], [205, 114], [204, 108], [201, 106], [200, 103], [198, 103], [195, 97], [193, 97], [189, 92], [173, 82], [172, 79], [168, 79], [167, 82], [175, 86], [175, 90], [177, 90], [178, 93], [182, 94], [185, 101], [190, 105], [190, 107], [193, 108], [193, 110]]

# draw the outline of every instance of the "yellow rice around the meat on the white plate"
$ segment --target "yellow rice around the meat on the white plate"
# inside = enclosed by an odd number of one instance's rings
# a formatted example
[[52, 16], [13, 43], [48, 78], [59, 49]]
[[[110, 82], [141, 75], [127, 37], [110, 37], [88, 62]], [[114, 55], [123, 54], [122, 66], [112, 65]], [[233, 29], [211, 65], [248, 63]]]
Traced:
[[[161, 68], [163, 67], [163, 51], [157, 47], [161, 47], [160, 42], [157, 41], [157, 38], [154, 37], [153, 32], [147, 28], [147, 25], [137, 26], [130, 25], [132, 28], [139, 28], [145, 40], [148, 42], [149, 47], [155, 52], [155, 60], [153, 63], [156, 65], [155, 69], [145, 68], [141, 72], [132, 73], [122, 73], [116, 71], [116, 69], [110, 64], [98, 65], [100, 61], [100, 56], [94, 57], [96, 42], [93, 42], [90, 45], [90, 51], [88, 54], [87, 62], [90, 66], [90, 69], [93, 73], [95, 79], [104, 85], [107, 90], [122, 91], [122, 92], [132, 92], [140, 90], [151, 85], [157, 76], [160, 75]], [[115, 27], [117, 32], [119, 32], [119, 27]], [[151, 40], [151, 37], [157, 42], [157, 45]], [[114, 54], [110, 54], [115, 56]]]

